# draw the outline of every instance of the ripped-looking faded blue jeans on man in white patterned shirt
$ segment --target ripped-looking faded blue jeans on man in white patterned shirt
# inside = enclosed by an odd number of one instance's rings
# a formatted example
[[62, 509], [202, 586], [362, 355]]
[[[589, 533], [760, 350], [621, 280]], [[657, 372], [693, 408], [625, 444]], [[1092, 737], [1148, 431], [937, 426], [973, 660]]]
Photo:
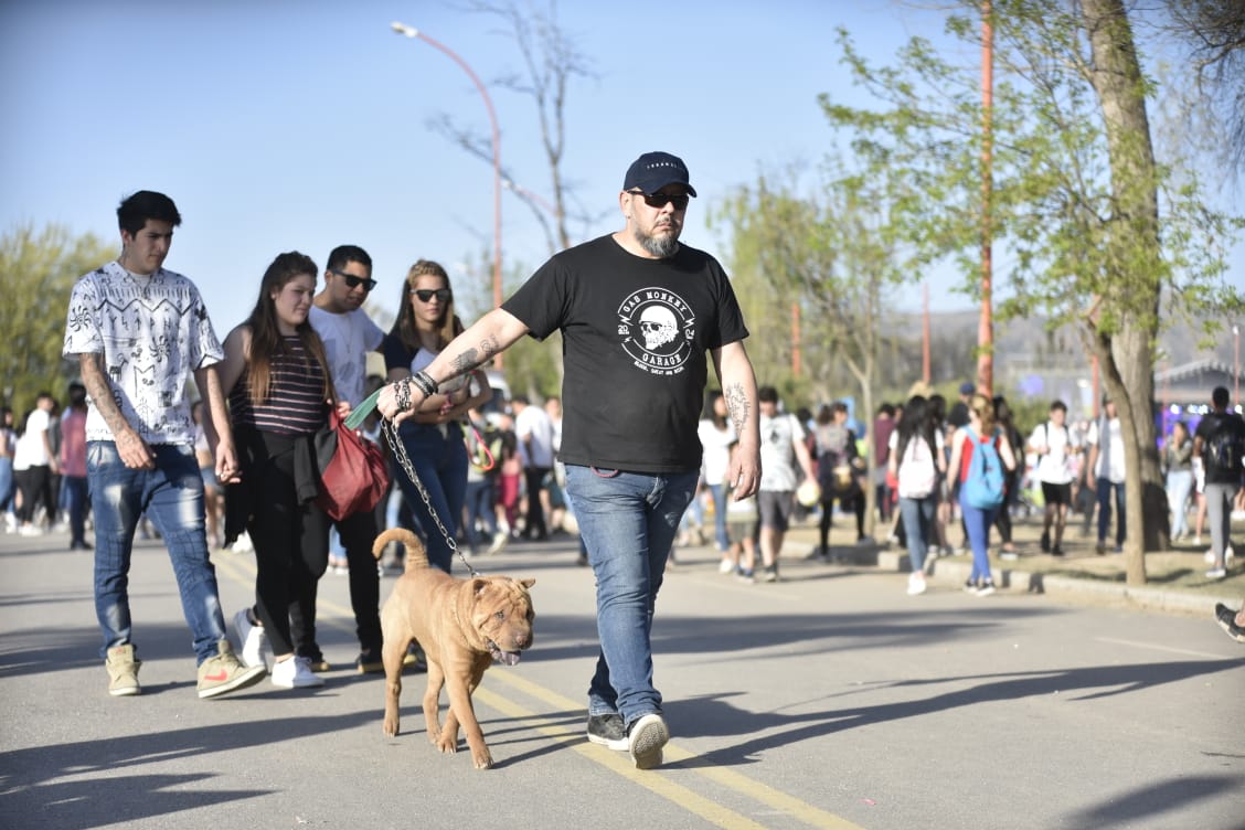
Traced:
[[217, 655], [225, 637], [217, 572], [204, 533], [203, 477], [194, 449], [153, 444], [156, 469], [129, 469], [111, 441], [87, 442], [86, 472], [95, 510], [95, 613], [108, 648], [129, 642], [129, 555], [134, 528], [146, 513], [159, 530], [194, 636], [198, 662]]

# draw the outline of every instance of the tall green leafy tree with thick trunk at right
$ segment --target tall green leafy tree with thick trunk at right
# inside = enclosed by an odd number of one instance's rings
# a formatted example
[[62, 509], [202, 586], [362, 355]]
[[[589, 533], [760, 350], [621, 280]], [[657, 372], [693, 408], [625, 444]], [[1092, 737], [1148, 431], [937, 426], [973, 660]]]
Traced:
[[[949, 19], [976, 40], [980, 6]], [[1240, 219], [1209, 208], [1185, 159], [1155, 159], [1133, 27], [1120, 0], [1001, 0], [992, 110], [994, 188], [989, 223], [1011, 268], [996, 282], [998, 317], [1045, 316], [1079, 332], [1117, 402], [1125, 463], [1127, 577], [1144, 582], [1144, 549], [1165, 544], [1167, 509], [1152, 418], [1153, 366], [1163, 326], [1240, 307], [1225, 279]], [[979, 284], [982, 111], [976, 67], [944, 61], [914, 39], [899, 66], [869, 66], [840, 32], [854, 81], [880, 106], [823, 96], [873, 175], [911, 184], [895, 205], [900, 241], [918, 264], [950, 256]], [[1211, 322], [1211, 326], [1214, 322]]]

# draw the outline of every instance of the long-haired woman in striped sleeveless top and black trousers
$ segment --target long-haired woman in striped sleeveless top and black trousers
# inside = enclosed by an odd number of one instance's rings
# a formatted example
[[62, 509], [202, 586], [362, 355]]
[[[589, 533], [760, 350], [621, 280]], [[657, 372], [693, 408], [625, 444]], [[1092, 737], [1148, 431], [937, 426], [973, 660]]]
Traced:
[[322, 657], [304, 653], [316, 650], [316, 582], [329, 564], [311, 441], [332, 398], [324, 343], [308, 322], [317, 273], [298, 251], [278, 256], [250, 317], [225, 337], [220, 365], [242, 467], [228, 489], [225, 543], [245, 526], [256, 566], [255, 605], [234, 625], [247, 664], [266, 662], [270, 647], [273, 683], [284, 688], [324, 684], [311, 671]]

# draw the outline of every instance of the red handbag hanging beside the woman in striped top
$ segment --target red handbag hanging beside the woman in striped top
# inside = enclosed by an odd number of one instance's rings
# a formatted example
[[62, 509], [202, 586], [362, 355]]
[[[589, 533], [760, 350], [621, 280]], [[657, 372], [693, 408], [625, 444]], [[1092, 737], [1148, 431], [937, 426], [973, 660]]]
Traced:
[[380, 447], [347, 427], [336, 409], [329, 411], [329, 426], [315, 434], [315, 458], [316, 504], [334, 521], [374, 510], [388, 493], [388, 464]]

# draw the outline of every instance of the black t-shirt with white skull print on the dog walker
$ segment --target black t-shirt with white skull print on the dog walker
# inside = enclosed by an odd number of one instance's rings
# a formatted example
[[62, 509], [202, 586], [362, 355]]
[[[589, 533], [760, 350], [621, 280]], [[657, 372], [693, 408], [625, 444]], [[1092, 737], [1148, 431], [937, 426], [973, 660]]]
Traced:
[[601, 236], [554, 255], [502, 307], [539, 340], [561, 331], [563, 462], [700, 468], [706, 352], [748, 336], [717, 260], [686, 245], [645, 259]]

